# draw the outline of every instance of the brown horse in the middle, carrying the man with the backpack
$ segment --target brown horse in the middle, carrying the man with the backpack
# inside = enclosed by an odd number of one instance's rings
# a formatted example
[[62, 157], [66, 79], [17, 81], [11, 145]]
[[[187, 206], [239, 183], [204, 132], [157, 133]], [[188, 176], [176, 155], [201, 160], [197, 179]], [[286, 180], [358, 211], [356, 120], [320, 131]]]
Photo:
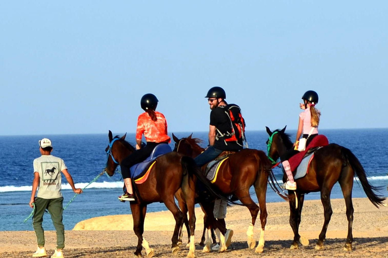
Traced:
[[[191, 135], [182, 139], [178, 139], [175, 137], [175, 135], [172, 136], [175, 141], [174, 150], [178, 153], [182, 153], [189, 157], [196, 157], [204, 151], [204, 149], [199, 145], [201, 140], [191, 138]], [[248, 246], [252, 249], [256, 245], [253, 229], [257, 215], [261, 210], [260, 222], [262, 231], [260, 234], [259, 244], [255, 250], [257, 253], [263, 252], [264, 249], [264, 230], [267, 223], [266, 191], [267, 181], [270, 174], [272, 175], [271, 162], [268, 160], [263, 151], [243, 149], [231, 155], [226, 161], [222, 163], [218, 170], [217, 179], [213, 183], [213, 185], [215, 185], [222, 193], [224, 193], [224, 195], [236, 196], [238, 200], [249, 209], [252, 222], [248, 227], [247, 242]], [[249, 188], [252, 185], [255, 187], [260, 208], [251, 198]], [[208, 209], [206, 213], [208, 218], [213, 217], [212, 209]], [[209, 245], [210, 242], [207, 241], [204, 250], [206, 250], [206, 247], [209, 249]]]

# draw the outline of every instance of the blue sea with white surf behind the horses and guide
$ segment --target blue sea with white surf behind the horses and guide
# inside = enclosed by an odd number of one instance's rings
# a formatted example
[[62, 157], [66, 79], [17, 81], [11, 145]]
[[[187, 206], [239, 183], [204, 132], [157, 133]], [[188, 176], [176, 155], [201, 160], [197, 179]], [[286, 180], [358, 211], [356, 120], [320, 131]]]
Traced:
[[[271, 128], [272, 130], [276, 128]], [[178, 138], [187, 137], [192, 132], [174, 133]], [[296, 131], [286, 133], [294, 140]], [[379, 194], [388, 195], [388, 128], [375, 129], [342, 129], [320, 130], [330, 143], [336, 143], [350, 149], [367, 171], [369, 182], [380, 187]], [[118, 134], [123, 135], [123, 134]], [[247, 131], [249, 148], [263, 150], [267, 153], [265, 131]], [[204, 140], [207, 145], [208, 132], [193, 132], [192, 137]], [[38, 141], [49, 138], [53, 142], [53, 155], [61, 157], [68, 167], [77, 188], [84, 188], [104, 169], [109, 144], [108, 134], [88, 135], [33, 135], [33, 136], [0, 136], [0, 231], [32, 231], [32, 219], [24, 222], [31, 214], [28, 203], [31, 196], [33, 166], [32, 162], [40, 156]], [[135, 135], [127, 134], [126, 139], [134, 143]], [[171, 143], [173, 148], [174, 143]], [[282, 171], [274, 168], [273, 172], [280, 183]], [[355, 179], [354, 198], [366, 197], [362, 187]], [[81, 195], [74, 198], [74, 193], [65, 177], [62, 179], [64, 207], [63, 222], [65, 230], [71, 230], [75, 224], [99, 216], [131, 214], [129, 203], [121, 203], [123, 181], [120, 174], [112, 177], [101, 176], [84, 188]], [[253, 188], [253, 199], [257, 202]], [[331, 198], [342, 199], [341, 188], [336, 183]], [[305, 200], [319, 200], [319, 192], [306, 195]], [[284, 202], [268, 187], [267, 202]], [[161, 203], [148, 206], [148, 212], [166, 211]], [[129, 218], [129, 216], [128, 216]], [[50, 215], [44, 215], [43, 228], [54, 230]]]

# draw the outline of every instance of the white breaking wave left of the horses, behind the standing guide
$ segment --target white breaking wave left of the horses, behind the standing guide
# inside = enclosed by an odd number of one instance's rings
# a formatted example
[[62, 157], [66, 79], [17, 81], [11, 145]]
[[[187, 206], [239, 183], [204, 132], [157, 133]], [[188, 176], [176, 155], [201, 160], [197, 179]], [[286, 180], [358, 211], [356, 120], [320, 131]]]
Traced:
[[[76, 188], [84, 188], [88, 183], [76, 183]], [[122, 181], [110, 181], [110, 182], [93, 182], [90, 185], [86, 187], [87, 188], [123, 188], [123, 182]], [[62, 184], [62, 189], [71, 189], [70, 184]], [[9, 191], [31, 191], [32, 186], [31, 185], [25, 185], [25, 186], [14, 186], [14, 185], [7, 185], [7, 186], [0, 186], [0, 192], [9, 192]]]

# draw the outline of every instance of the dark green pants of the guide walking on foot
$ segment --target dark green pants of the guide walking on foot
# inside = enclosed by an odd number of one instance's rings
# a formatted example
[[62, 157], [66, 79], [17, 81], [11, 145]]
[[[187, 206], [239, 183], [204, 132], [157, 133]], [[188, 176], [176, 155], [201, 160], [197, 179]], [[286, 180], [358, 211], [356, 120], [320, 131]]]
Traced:
[[63, 197], [57, 199], [35, 198], [35, 213], [32, 219], [38, 246], [44, 246], [44, 231], [42, 227], [43, 214], [47, 209], [51, 215], [55, 230], [57, 231], [57, 248], [65, 247], [65, 226], [62, 223]]

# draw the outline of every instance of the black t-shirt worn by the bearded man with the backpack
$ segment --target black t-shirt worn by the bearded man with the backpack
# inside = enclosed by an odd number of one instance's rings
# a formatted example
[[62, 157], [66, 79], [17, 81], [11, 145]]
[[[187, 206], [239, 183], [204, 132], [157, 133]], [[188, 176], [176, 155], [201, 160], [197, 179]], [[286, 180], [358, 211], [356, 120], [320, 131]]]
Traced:
[[[210, 125], [216, 126], [216, 136], [219, 136], [218, 131], [221, 134], [232, 133], [232, 125], [228, 115], [225, 113], [225, 108], [216, 107], [210, 112]], [[216, 137], [214, 142], [214, 148], [222, 151], [238, 151], [243, 149], [243, 146], [238, 145], [236, 142], [225, 142], [223, 137]]]

